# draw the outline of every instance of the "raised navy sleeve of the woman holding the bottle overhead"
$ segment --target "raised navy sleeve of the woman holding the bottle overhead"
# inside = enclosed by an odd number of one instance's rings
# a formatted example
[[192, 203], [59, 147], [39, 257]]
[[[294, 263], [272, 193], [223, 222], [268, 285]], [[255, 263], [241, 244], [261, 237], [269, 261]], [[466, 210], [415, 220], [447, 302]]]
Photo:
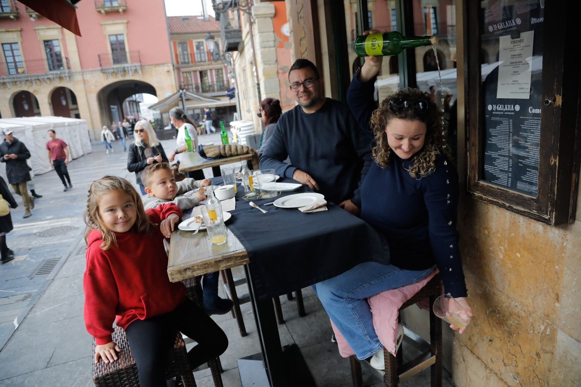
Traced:
[[377, 108], [377, 104], [373, 99], [376, 77], [367, 82], [360, 82], [358, 78], [360, 72], [361, 70], [357, 71], [353, 76], [353, 81], [349, 85], [349, 89], [347, 89], [347, 103], [349, 103], [349, 108], [355, 116], [361, 130], [365, 135], [374, 139], [370, 122], [371, 114]]

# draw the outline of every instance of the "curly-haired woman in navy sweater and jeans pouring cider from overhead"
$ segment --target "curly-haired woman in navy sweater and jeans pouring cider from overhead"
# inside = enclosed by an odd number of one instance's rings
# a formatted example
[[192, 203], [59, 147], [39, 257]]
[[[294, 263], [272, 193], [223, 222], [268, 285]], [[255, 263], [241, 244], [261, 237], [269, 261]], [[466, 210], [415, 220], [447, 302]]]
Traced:
[[[361, 218], [386, 237], [390, 265], [361, 263], [315, 285], [358, 359], [372, 356], [371, 365], [378, 369], [384, 368], [383, 349], [365, 298], [420, 281], [437, 266], [444, 292], [472, 316], [456, 230], [458, 175], [442, 131], [442, 112], [417, 89], [399, 91], [377, 107], [374, 84], [382, 60], [365, 58], [347, 102], [373, 140], [374, 163], [361, 186]], [[396, 342], [402, 336], [400, 329]]]

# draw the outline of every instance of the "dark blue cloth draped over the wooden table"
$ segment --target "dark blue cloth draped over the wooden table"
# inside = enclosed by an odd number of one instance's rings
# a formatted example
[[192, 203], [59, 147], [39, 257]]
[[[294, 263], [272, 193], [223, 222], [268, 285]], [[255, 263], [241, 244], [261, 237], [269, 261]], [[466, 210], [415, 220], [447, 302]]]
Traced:
[[[222, 178], [212, 179], [216, 185]], [[279, 182], [293, 182], [281, 179]], [[275, 198], [309, 191], [307, 186]], [[236, 209], [228, 228], [248, 251], [254, 284], [261, 299], [286, 294], [335, 277], [357, 263], [389, 263], [389, 248], [381, 235], [363, 220], [329, 203], [328, 211], [304, 214], [296, 208], [250, 207], [238, 186]]]

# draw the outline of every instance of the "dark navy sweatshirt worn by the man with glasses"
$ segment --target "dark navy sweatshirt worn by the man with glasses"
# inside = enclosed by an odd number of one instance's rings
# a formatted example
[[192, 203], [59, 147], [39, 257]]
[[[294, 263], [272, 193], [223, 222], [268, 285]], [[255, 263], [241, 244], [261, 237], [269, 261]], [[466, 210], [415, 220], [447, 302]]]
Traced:
[[[361, 207], [370, 143], [347, 104], [327, 98], [315, 113], [296, 106], [281, 116], [260, 156], [260, 169], [274, 168], [277, 175], [292, 178], [298, 168], [311, 175], [327, 201], [350, 199]], [[284, 162], [287, 157], [291, 164]]]

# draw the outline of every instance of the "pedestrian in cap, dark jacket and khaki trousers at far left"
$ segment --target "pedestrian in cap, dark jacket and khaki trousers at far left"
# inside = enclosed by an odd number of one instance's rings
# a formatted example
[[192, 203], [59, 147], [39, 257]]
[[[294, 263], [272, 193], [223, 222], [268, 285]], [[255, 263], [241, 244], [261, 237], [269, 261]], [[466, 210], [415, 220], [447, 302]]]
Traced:
[[2, 130], [4, 142], [0, 144], [0, 161], [6, 163], [6, 176], [12, 189], [17, 195], [22, 197], [24, 204], [23, 218], [28, 218], [34, 208], [34, 197], [28, 196], [26, 183], [30, 180], [30, 167], [26, 164], [26, 159], [30, 158], [30, 151], [26, 145], [14, 137], [8, 128]]

